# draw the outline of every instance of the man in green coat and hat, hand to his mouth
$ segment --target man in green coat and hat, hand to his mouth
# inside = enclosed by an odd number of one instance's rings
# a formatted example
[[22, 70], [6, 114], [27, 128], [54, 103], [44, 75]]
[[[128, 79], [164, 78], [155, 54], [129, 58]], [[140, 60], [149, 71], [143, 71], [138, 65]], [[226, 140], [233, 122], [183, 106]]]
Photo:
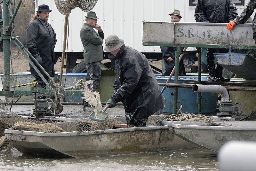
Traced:
[[[91, 91], [97, 91], [100, 84], [100, 61], [105, 59], [103, 51], [104, 33], [100, 25], [97, 24], [95, 12], [87, 12], [83, 27], [80, 30], [80, 38], [84, 46], [84, 64], [87, 68], [86, 81], [92, 80]], [[98, 34], [93, 29], [98, 30]]]

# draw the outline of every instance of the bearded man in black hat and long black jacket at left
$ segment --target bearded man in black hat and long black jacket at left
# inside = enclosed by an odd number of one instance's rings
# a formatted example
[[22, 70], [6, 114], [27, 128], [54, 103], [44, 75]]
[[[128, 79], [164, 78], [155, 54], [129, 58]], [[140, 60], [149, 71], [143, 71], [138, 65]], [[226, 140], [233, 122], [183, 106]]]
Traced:
[[[27, 27], [26, 42], [28, 51], [35, 57], [45, 71], [53, 77], [54, 63], [56, 63], [54, 47], [57, 39], [52, 26], [47, 22], [50, 12], [52, 12], [52, 10], [49, 9], [48, 5], [43, 4], [38, 6], [36, 15], [33, 16]], [[38, 69], [39, 71], [41, 70], [39, 67]], [[46, 86], [32, 66], [30, 66], [30, 73], [36, 77], [35, 81], [38, 82], [38, 87], [44, 88]], [[43, 72], [41, 73], [48, 81], [49, 78]]]

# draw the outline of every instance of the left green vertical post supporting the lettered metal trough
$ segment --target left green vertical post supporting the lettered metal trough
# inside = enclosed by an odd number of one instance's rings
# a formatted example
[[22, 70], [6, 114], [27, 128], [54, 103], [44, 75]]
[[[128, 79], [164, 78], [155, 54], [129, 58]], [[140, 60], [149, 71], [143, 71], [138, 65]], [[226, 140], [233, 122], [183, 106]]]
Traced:
[[[179, 83], [179, 57], [180, 57], [180, 45], [177, 46], [175, 52], [175, 72], [174, 72], [174, 83]], [[178, 87], [174, 88], [173, 96], [173, 113], [177, 113], [177, 104], [178, 104]]]

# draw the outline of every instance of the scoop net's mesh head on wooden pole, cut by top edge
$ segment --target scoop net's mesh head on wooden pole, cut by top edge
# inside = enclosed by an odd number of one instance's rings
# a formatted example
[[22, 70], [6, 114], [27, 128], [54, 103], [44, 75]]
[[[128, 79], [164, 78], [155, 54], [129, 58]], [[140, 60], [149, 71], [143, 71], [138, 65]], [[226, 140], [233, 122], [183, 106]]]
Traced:
[[54, 0], [58, 11], [62, 15], [69, 15], [71, 10], [79, 7], [82, 11], [90, 11], [98, 0]]

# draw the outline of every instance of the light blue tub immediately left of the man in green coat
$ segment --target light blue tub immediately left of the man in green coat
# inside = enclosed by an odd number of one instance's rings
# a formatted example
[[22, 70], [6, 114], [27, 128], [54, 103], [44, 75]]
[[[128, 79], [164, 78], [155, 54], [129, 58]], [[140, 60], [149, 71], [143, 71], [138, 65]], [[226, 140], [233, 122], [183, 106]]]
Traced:
[[[59, 74], [60, 76], [60, 74]], [[83, 79], [83, 81], [85, 82], [86, 80], [86, 73], [67, 73], [62, 75], [62, 86], [65, 85], [64, 88], [67, 87], [71, 87], [74, 86], [74, 84], [76, 84], [80, 79]], [[66, 79], [66, 82], [65, 82]], [[81, 96], [64, 96], [65, 102], [81, 102], [83, 101], [81, 99]]]

